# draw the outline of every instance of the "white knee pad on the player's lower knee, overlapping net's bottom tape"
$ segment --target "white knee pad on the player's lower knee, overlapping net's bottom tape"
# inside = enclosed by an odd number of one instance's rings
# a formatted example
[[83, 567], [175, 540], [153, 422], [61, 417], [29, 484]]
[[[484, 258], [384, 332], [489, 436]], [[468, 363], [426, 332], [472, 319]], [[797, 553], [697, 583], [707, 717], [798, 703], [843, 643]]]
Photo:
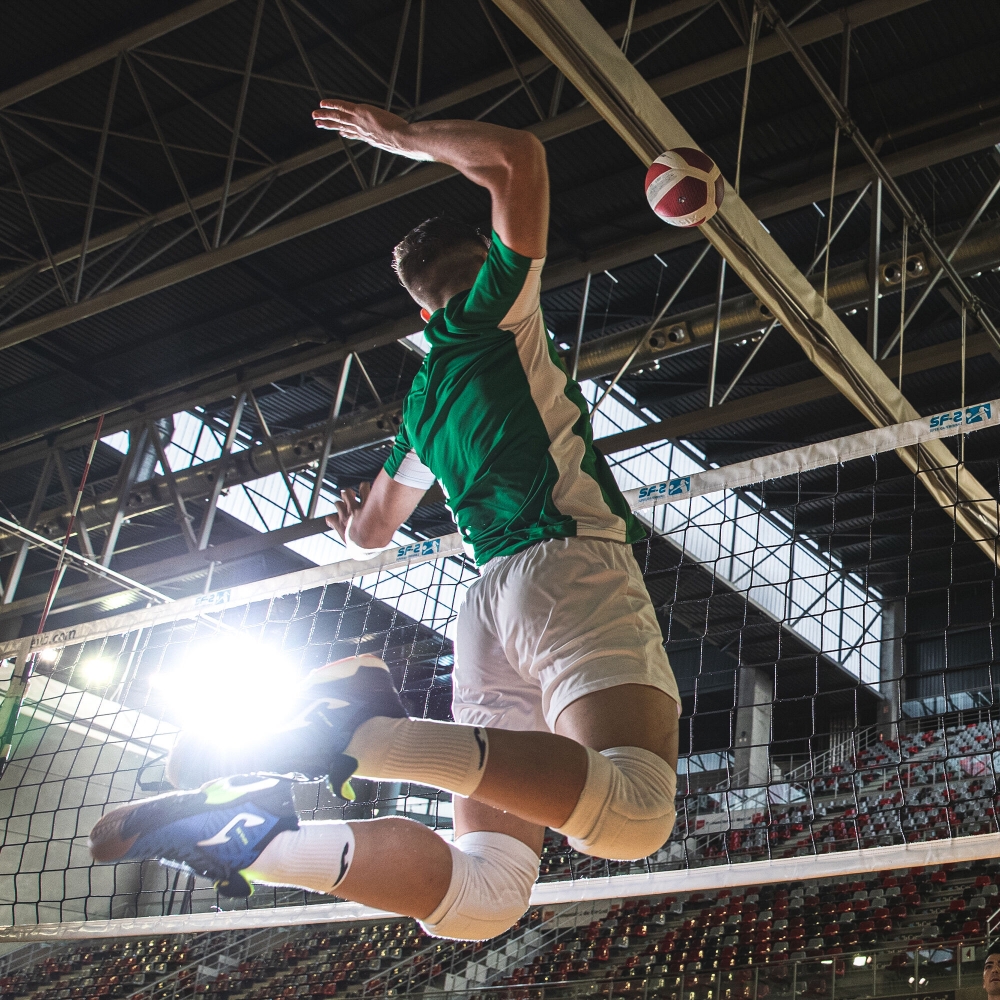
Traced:
[[502, 934], [528, 908], [538, 855], [503, 833], [467, 833], [451, 848], [451, 883], [420, 926], [435, 937], [485, 941]]

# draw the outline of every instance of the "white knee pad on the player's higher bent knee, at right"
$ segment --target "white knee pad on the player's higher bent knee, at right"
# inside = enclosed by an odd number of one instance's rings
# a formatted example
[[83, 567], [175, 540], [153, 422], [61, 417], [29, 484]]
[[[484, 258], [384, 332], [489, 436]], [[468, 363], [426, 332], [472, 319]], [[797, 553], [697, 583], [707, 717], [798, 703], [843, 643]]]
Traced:
[[611, 861], [644, 858], [674, 828], [677, 775], [662, 757], [639, 747], [587, 748], [587, 781], [559, 829], [570, 847]]

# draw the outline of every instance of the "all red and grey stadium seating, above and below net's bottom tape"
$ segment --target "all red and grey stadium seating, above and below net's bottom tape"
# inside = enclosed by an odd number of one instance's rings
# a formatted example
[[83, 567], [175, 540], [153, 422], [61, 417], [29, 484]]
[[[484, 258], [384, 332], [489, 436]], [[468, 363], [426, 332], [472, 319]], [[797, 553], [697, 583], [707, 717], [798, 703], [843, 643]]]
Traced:
[[[686, 799], [667, 845], [641, 862], [584, 857], [549, 834], [540, 877], [993, 832], [998, 739], [1000, 721], [915, 728], [896, 741], [871, 739], [822, 775], [790, 774], [782, 801], [769, 801], [768, 789], [699, 792]], [[579, 924], [550, 917], [532, 910], [485, 944], [428, 938], [404, 919], [283, 929], [274, 946], [218, 965], [205, 958], [210, 935], [47, 945], [34, 964], [23, 955], [16, 968], [10, 957], [0, 961], [0, 1000], [475, 995], [480, 986], [491, 987], [484, 997], [513, 1000], [534, 1000], [540, 989], [546, 997], [779, 1000], [793, 986], [796, 996], [845, 995], [838, 983], [861, 975], [881, 977], [882, 993], [906, 993], [939, 985], [963, 946], [1000, 924], [1000, 863], [609, 900], [591, 904]]]

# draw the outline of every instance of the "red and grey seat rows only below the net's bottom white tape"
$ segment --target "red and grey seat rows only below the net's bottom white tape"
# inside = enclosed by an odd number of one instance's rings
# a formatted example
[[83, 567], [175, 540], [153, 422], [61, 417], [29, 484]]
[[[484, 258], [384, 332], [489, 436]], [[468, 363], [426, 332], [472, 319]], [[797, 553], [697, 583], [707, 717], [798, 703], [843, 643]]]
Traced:
[[541, 988], [778, 1000], [793, 980], [796, 995], [821, 997], [859, 976], [878, 978], [880, 993], [908, 992], [915, 957], [932, 988], [962, 946], [982, 942], [1000, 911], [998, 881], [1000, 863], [966, 862], [608, 901], [579, 924], [535, 909], [487, 943], [435, 940], [403, 919], [317, 925], [220, 970], [203, 964], [208, 935], [76, 944], [0, 977], [0, 1000], [474, 996], [480, 983], [491, 987], [484, 1000], [533, 1000]]

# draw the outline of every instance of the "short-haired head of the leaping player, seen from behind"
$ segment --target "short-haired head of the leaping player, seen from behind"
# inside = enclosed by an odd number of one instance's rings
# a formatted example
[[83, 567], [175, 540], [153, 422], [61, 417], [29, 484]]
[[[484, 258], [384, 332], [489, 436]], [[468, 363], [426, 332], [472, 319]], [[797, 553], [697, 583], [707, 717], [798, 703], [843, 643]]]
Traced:
[[400, 284], [433, 312], [471, 288], [490, 241], [467, 222], [438, 215], [411, 229], [392, 252]]

